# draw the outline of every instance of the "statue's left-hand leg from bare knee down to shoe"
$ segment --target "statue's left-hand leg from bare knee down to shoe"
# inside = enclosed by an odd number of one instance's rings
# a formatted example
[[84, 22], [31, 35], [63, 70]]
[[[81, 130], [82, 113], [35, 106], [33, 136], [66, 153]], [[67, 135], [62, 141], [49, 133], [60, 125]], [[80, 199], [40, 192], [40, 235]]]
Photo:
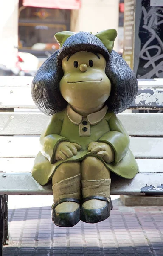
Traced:
[[52, 221], [59, 227], [73, 227], [80, 221], [80, 163], [62, 163], [56, 169], [52, 182]]

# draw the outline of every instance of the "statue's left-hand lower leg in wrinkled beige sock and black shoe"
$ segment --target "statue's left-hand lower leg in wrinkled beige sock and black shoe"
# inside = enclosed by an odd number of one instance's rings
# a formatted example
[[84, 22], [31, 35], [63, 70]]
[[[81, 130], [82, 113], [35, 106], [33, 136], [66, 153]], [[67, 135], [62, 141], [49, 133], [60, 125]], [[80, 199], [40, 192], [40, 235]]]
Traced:
[[53, 223], [59, 227], [73, 227], [80, 221], [81, 174], [59, 181], [52, 189]]

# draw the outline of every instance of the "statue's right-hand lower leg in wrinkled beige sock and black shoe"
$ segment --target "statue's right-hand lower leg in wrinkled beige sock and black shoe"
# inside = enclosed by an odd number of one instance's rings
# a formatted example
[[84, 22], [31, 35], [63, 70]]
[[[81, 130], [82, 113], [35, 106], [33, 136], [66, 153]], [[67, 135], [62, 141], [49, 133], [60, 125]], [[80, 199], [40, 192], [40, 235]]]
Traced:
[[110, 183], [111, 179], [82, 180], [81, 221], [97, 223], [110, 216]]

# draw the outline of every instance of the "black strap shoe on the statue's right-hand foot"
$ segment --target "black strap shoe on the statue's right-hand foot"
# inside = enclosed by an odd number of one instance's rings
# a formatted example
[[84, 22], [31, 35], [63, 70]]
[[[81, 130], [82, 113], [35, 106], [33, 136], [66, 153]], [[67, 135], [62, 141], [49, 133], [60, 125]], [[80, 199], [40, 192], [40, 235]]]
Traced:
[[105, 205], [105, 207], [101, 209], [91, 209], [91, 210], [85, 209], [82, 206], [81, 214], [80, 214], [81, 221], [86, 223], [97, 223], [100, 221], [104, 221], [110, 216], [110, 210], [112, 210], [113, 208], [111, 198], [105, 198], [103, 196], [90, 196], [90, 197], [84, 198], [83, 203], [92, 199], [106, 201], [107, 204]]

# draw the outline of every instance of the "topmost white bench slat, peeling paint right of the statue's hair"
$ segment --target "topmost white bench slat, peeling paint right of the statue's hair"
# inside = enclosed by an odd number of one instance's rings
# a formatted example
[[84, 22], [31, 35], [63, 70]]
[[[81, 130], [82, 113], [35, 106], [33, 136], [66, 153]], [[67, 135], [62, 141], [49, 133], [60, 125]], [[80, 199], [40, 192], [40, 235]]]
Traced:
[[[31, 99], [32, 77], [0, 76], [0, 108], [36, 108]], [[129, 108], [163, 109], [163, 79], [138, 79], [139, 90]]]

